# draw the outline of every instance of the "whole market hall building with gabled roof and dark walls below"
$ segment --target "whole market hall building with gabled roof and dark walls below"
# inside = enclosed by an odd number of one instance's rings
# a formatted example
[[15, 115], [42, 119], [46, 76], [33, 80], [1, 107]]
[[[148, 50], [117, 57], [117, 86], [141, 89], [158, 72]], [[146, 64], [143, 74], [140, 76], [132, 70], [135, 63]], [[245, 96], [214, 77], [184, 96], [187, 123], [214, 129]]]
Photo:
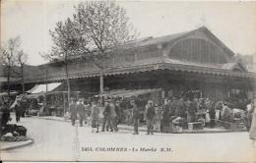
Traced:
[[[109, 54], [105, 60], [109, 66], [103, 70], [106, 92], [160, 88], [161, 97], [252, 98], [253, 74], [206, 27], [130, 41]], [[99, 91], [99, 69], [93, 62], [75, 59], [69, 64], [69, 78], [72, 91], [87, 95]], [[58, 90], [66, 90], [61, 63], [27, 70], [25, 81], [28, 88], [62, 82]]]

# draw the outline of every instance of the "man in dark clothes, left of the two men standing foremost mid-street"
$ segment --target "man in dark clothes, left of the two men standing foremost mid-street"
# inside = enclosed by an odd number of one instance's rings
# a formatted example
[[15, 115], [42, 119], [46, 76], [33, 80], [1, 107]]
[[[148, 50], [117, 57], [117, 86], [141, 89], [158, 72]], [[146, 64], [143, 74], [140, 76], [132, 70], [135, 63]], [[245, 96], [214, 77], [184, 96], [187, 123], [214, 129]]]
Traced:
[[133, 135], [139, 135], [140, 110], [137, 107], [135, 100], [131, 100], [130, 103], [132, 106], [132, 117], [133, 117], [133, 125], [134, 125]]

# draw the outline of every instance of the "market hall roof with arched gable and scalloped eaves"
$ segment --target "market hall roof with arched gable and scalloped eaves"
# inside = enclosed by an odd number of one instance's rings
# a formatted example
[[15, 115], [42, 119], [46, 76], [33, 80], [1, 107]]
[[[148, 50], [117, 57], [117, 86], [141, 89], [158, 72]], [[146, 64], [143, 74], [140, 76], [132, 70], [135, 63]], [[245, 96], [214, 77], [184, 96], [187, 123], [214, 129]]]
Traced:
[[[217, 76], [252, 79], [234, 53], [206, 27], [161, 37], [147, 37], [127, 42], [118, 54], [105, 61], [110, 65], [104, 76], [154, 70], [173, 70]], [[48, 69], [48, 74], [45, 74]], [[69, 65], [70, 79], [98, 77], [99, 69], [83, 59]], [[26, 81], [61, 81], [65, 79], [63, 65], [45, 64], [27, 72]]]

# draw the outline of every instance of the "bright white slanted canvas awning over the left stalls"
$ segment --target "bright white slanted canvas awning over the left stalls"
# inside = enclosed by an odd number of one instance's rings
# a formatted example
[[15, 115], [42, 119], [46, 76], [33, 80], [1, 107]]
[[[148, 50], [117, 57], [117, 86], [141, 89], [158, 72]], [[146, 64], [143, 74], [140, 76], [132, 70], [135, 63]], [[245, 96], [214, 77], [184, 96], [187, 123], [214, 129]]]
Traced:
[[52, 91], [55, 88], [57, 88], [62, 82], [52, 82], [52, 83], [47, 83], [47, 84], [36, 84], [32, 87], [32, 89], [28, 90], [28, 93], [42, 93], [46, 92], [46, 87], [47, 91]]

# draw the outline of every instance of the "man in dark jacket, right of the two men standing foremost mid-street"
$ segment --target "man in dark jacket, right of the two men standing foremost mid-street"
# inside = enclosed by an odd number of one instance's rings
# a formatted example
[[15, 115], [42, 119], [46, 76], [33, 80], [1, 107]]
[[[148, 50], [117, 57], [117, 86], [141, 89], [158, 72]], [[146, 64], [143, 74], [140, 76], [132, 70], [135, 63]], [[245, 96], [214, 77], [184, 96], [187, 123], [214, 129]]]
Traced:
[[154, 135], [153, 129], [154, 129], [154, 118], [155, 118], [156, 112], [154, 107], [154, 102], [152, 100], [148, 101], [148, 104], [146, 105], [145, 110], [145, 119], [147, 124], [147, 135]]

